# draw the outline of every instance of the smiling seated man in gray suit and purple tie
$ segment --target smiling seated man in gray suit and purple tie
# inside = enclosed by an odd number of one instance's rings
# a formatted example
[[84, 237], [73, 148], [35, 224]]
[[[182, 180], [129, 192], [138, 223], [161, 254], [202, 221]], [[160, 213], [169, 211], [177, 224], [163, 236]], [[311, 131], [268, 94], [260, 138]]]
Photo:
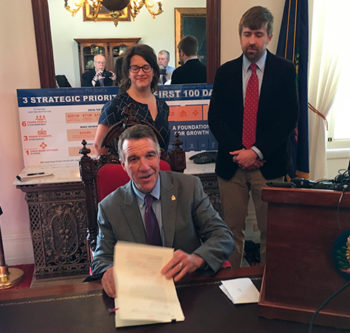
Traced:
[[[199, 268], [218, 271], [233, 251], [233, 238], [200, 180], [159, 171], [159, 144], [146, 125], [125, 130], [118, 152], [131, 180], [99, 204], [99, 234], [91, 263], [94, 274], [103, 273], [106, 293], [116, 295], [112, 266], [118, 240], [175, 248], [161, 271], [175, 282]], [[149, 197], [153, 204], [148, 203]]]

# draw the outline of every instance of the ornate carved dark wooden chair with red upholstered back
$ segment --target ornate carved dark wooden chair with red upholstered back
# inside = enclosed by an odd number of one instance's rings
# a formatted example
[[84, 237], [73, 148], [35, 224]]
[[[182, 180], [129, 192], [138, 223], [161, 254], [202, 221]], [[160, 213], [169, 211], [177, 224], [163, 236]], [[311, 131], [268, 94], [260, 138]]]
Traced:
[[[88, 218], [88, 243], [92, 251], [96, 248], [96, 239], [98, 233], [97, 225], [97, 205], [106, 195], [114, 191], [119, 186], [129, 181], [127, 173], [123, 170], [118, 157], [118, 139], [120, 134], [128, 127], [135, 124], [144, 124], [150, 126], [156, 133], [158, 140], [161, 142], [163, 138], [158, 130], [151, 124], [138, 120], [133, 115], [134, 105], [131, 104], [123, 110], [123, 119], [113, 125], [102, 140], [102, 147], [106, 147], [107, 153], [100, 155], [98, 158], [91, 158], [89, 153], [91, 150], [86, 147], [87, 142], [82, 141], [83, 148], [80, 154], [80, 176], [85, 188], [86, 207]], [[166, 153], [161, 153], [161, 170], [173, 170], [183, 172], [186, 168], [185, 152], [180, 147], [182, 142], [178, 135], [173, 143], [174, 149]]]

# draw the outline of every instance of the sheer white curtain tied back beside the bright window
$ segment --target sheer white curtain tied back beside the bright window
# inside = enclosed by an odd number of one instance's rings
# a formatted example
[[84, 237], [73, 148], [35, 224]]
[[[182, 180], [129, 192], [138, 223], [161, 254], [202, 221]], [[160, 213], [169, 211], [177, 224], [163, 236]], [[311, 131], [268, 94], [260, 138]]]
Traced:
[[[347, 22], [342, 3], [348, 0], [315, 0], [309, 67], [309, 102], [327, 117], [338, 86], [339, 47], [348, 43], [339, 22]], [[348, 14], [348, 13], [347, 13]], [[343, 15], [344, 18], [341, 16]], [[344, 21], [342, 21], [344, 20]], [[343, 35], [342, 38], [337, 38]], [[345, 40], [344, 40], [345, 38]], [[316, 113], [309, 114], [310, 177], [326, 177], [326, 122]]]

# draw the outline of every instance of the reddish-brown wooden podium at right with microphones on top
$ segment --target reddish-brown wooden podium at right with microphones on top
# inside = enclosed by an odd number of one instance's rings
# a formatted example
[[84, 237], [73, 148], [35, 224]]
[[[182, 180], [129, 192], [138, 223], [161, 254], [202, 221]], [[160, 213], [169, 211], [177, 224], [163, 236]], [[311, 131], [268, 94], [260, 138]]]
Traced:
[[[337, 237], [350, 228], [350, 193], [265, 187], [262, 198], [269, 208], [259, 313], [307, 323], [346, 282], [332, 251]], [[350, 290], [343, 290], [315, 324], [350, 328], [349, 299]]]

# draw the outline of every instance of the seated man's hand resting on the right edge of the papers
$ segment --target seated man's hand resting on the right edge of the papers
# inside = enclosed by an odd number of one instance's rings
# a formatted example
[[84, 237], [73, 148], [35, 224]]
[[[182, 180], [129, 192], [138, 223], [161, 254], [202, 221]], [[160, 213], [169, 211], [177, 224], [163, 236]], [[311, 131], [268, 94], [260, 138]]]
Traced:
[[187, 254], [181, 250], [174, 252], [173, 258], [160, 271], [167, 279], [177, 282], [186, 274], [192, 273], [204, 265], [204, 260], [196, 254]]

